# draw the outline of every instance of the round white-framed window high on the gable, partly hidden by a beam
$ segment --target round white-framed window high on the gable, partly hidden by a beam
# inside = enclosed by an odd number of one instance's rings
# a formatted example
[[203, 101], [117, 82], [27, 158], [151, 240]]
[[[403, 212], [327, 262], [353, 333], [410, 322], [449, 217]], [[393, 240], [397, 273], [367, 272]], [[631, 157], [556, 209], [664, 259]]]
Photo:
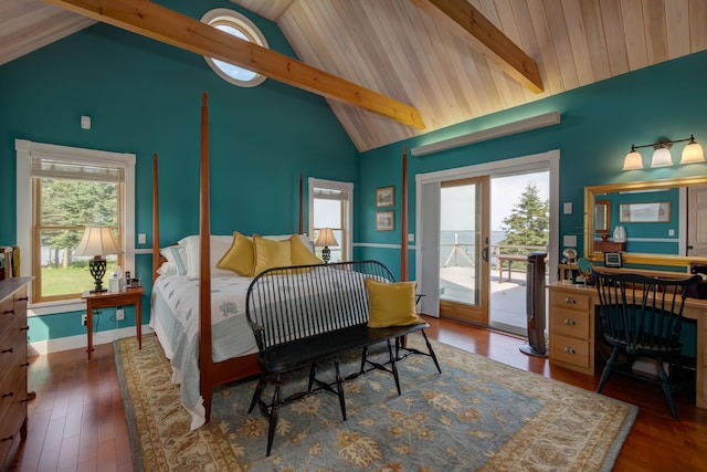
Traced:
[[[251, 43], [267, 46], [265, 36], [257, 27], [243, 14], [225, 8], [217, 8], [208, 11], [201, 21], [217, 28], [225, 33], [233, 34], [236, 38], [249, 41]], [[264, 75], [219, 61], [218, 59], [203, 57], [207, 64], [219, 74], [221, 78], [241, 87], [254, 87], [265, 80]]]

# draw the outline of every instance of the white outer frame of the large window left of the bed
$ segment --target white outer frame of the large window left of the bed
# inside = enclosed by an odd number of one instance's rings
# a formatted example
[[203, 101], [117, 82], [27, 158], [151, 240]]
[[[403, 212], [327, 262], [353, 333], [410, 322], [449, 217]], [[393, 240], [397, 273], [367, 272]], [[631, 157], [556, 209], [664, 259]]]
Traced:
[[[32, 157], [54, 157], [73, 162], [92, 162], [123, 167], [125, 169], [125, 211], [123, 211], [123, 261], [125, 269], [135, 273], [135, 162], [136, 156], [128, 153], [112, 153], [106, 150], [85, 149], [78, 147], [60, 146], [54, 144], [34, 143], [27, 139], [15, 139], [17, 151], [17, 245], [20, 248], [20, 273], [32, 273]], [[31, 290], [31, 289], [30, 289]], [[30, 296], [32, 300], [32, 296]], [[32, 304], [33, 314], [60, 313], [55, 308], [61, 305], [61, 312], [84, 310], [81, 300], [42, 302]]]

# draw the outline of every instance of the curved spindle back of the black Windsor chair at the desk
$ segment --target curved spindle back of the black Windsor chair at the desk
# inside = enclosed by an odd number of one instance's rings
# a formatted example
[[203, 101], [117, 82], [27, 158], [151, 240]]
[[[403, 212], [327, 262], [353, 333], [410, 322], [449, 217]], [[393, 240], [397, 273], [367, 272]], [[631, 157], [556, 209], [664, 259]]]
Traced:
[[635, 273], [602, 273], [592, 268], [599, 292], [604, 339], [629, 355], [675, 354], [688, 286], [699, 275], [658, 279]]

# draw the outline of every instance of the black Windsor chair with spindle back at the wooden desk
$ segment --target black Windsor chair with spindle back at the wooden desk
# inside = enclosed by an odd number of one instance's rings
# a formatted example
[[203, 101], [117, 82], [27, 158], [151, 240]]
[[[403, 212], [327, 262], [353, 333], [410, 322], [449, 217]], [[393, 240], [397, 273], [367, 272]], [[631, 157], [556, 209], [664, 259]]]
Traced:
[[[601, 394], [612, 373], [661, 384], [673, 419], [677, 420], [673, 386], [664, 363], [675, 365], [678, 375], [683, 375], [679, 337], [685, 291], [701, 282], [701, 277], [656, 279], [632, 273], [602, 273], [593, 268], [592, 275], [599, 291], [604, 340], [613, 347], [597, 391]], [[627, 361], [616, 364], [622, 353]], [[640, 356], [656, 360], [658, 379], [633, 371], [633, 361]]]

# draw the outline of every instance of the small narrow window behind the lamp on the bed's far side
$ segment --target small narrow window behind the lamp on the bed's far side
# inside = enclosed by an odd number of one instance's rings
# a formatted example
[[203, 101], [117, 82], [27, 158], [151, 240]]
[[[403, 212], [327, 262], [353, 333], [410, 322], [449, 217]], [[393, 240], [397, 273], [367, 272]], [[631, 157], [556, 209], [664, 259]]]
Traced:
[[[309, 178], [309, 234], [316, 241], [319, 230], [330, 228], [338, 245], [329, 247], [331, 262], [352, 258], [354, 183]], [[321, 249], [316, 248], [321, 256]]]

